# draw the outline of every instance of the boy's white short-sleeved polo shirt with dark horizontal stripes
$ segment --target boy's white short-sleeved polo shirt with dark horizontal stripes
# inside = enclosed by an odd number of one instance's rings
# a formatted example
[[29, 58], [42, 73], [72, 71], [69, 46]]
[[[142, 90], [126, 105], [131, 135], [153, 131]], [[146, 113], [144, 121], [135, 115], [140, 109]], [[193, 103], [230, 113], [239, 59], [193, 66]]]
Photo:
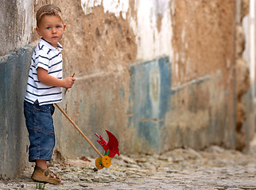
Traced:
[[25, 101], [31, 104], [38, 101], [39, 105], [48, 105], [62, 101], [61, 87], [46, 86], [39, 82], [37, 78], [37, 67], [41, 67], [48, 70], [48, 74], [52, 77], [62, 79], [62, 55], [60, 53], [62, 49], [60, 44], [56, 48], [52, 47], [45, 40], [41, 39], [39, 41], [31, 58]]

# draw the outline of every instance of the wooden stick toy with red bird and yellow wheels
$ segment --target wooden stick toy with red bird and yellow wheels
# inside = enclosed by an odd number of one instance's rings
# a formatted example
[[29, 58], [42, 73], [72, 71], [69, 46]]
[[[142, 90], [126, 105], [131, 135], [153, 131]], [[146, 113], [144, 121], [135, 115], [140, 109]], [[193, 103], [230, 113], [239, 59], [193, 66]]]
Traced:
[[97, 158], [95, 160], [95, 165], [98, 169], [103, 169], [108, 168], [109, 166], [111, 166], [111, 158], [114, 157], [115, 154], [119, 155], [119, 150], [118, 150], [118, 139], [115, 138], [115, 136], [110, 132], [107, 131], [107, 135], [108, 135], [108, 142], [105, 141], [100, 135], [96, 134], [97, 137], [99, 137], [100, 140], [97, 140], [99, 142], [99, 144], [101, 146], [103, 146], [103, 149], [105, 150], [105, 154], [104, 156], [99, 152], [99, 150], [91, 143], [91, 141], [89, 139], [87, 139], [87, 136], [83, 134], [83, 132], [80, 130], [79, 127], [77, 127], [77, 125], [71, 120], [71, 118], [68, 116], [68, 114], [66, 112], [64, 112], [64, 110], [62, 108], [60, 108], [59, 105], [56, 105], [57, 108], [60, 109], [60, 112], [62, 112], [64, 114], [64, 116], [67, 117], [67, 119], [72, 123], [72, 125], [74, 127], [76, 127], [77, 131], [80, 132], [80, 134], [83, 136], [84, 139], [87, 140], [87, 142], [89, 142], [89, 144], [91, 145], [91, 147], [99, 154], [99, 158]]

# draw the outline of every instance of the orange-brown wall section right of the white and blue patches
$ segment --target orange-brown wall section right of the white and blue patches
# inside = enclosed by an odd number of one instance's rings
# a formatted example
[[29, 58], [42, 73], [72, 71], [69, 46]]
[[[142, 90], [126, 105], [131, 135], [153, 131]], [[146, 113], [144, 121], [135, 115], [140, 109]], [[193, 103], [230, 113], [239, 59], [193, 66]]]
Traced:
[[233, 147], [235, 1], [173, 3], [174, 109], [165, 131], [173, 146]]

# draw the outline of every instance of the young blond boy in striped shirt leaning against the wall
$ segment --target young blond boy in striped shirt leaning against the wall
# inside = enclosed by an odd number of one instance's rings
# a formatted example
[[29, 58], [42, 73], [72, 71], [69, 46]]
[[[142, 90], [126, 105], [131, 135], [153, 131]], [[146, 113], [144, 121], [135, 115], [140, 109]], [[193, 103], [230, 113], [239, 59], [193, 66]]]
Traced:
[[62, 101], [62, 88], [71, 88], [75, 78], [62, 79], [62, 50], [59, 41], [64, 29], [60, 8], [42, 6], [37, 11], [37, 33], [41, 36], [32, 55], [24, 101], [25, 124], [29, 131], [29, 161], [36, 162], [33, 180], [63, 184], [46, 161], [52, 158], [55, 135], [53, 103]]

